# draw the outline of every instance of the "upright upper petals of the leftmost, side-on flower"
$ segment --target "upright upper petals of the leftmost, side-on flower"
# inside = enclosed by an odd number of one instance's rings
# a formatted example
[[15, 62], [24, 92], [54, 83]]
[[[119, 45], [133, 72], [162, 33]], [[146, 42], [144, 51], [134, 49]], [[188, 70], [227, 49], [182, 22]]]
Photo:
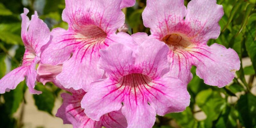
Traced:
[[24, 13], [21, 14], [23, 20], [21, 25], [21, 38], [28, 51], [35, 52], [40, 56], [41, 47], [50, 40], [50, 30], [44, 21], [38, 18], [36, 11], [35, 15], [32, 15], [30, 22], [26, 16], [27, 13], [28, 10], [24, 8]]

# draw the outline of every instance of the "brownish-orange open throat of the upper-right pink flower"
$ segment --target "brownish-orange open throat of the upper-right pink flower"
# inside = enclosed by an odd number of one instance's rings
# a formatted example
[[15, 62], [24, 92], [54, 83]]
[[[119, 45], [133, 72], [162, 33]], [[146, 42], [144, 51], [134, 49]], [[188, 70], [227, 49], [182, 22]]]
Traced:
[[186, 49], [192, 45], [188, 37], [182, 34], [169, 34], [162, 38], [162, 41], [169, 46], [172, 51]]

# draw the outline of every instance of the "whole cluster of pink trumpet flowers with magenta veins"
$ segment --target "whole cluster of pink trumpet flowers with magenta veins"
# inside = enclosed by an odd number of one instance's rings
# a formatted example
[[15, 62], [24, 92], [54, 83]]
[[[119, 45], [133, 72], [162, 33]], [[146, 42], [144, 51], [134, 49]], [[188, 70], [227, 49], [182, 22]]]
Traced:
[[[22, 66], [0, 80], [0, 93], [26, 77], [63, 90], [57, 117], [74, 128], [150, 128], [156, 114], [181, 112], [190, 102], [191, 66], [209, 85], [223, 87], [240, 68], [233, 49], [207, 45], [220, 35], [223, 8], [216, 0], [147, 0], [142, 13], [151, 35], [124, 33], [124, 7], [135, 0], [65, 0], [68, 30], [51, 32], [35, 12], [21, 14], [26, 48]], [[117, 33], [117, 29], [121, 32]], [[38, 65], [38, 67], [36, 66]], [[37, 68], [36, 68], [37, 67]]]

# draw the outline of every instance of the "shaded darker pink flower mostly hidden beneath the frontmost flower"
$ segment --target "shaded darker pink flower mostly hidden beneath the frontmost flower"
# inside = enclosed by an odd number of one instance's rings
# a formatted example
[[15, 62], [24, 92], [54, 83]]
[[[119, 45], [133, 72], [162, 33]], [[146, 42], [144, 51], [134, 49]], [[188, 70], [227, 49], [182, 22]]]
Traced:
[[81, 100], [86, 92], [77, 90], [73, 95], [62, 93], [63, 103], [57, 111], [56, 116], [63, 120], [64, 124], [72, 124], [74, 128], [126, 128], [127, 122], [124, 115], [119, 111], [113, 111], [103, 115], [100, 121], [94, 121], [85, 115], [81, 108]]

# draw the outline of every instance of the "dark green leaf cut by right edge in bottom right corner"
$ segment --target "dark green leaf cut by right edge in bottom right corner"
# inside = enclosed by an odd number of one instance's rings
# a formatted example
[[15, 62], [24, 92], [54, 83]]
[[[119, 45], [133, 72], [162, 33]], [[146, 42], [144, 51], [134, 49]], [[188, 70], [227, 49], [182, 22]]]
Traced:
[[246, 128], [256, 126], [256, 96], [252, 93], [242, 95], [237, 101], [239, 119]]

